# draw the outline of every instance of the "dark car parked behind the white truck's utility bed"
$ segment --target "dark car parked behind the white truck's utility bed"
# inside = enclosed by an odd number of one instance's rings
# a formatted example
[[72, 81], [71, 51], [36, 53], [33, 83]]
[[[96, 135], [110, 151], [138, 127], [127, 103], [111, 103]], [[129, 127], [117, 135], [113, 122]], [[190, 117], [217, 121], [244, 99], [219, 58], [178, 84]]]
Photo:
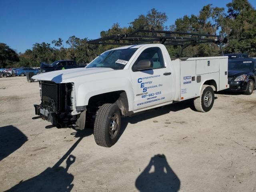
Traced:
[[228, 61], [228, 91], [252, 94], [256, 85], [256, 59], [244, 58]]

